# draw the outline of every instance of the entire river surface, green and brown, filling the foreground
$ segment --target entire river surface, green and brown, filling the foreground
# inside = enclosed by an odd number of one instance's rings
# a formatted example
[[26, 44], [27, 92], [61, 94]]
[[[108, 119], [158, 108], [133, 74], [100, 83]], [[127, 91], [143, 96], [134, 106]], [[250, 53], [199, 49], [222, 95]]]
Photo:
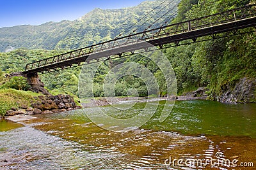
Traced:
[[[127, 132], [106, 131], [93, 124], [84, 111], [95, 108], [38, 115], [22, 122], [23, 125], [1, 122], [0, 169], [253, 169], [248, 167], [252, 163], [256, 166], [256, 104], [176, 101], [169, 117], [159, 123], [164, 103], [159, 103], [156, 114], [140, 129]], [[145, 103], [134, 107], [133, 110], [141, 110]], [[112, 116], [122, 115], [111, 106], [102, 110]], [[174, 159], [183, 162], [178, 164]], [[185, 164], [186, 160], [203, 163]], [[204, 164], [207, 160], [213, 161]], [[220, 164], [221, 160], [237, 161]]]

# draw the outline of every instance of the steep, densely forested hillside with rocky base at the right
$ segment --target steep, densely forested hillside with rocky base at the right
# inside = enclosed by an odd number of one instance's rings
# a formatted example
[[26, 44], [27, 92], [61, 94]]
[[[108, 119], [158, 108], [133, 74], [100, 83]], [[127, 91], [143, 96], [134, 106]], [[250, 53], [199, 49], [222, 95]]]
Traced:
[[[255, 3], [255, 0], [184, 0], [179, 5], [179, 15], [174, 22]], [[246, 29], [253, 30], [255, 28]], [[255, 38], [253, 32], [164, 50], [175, 69], [179, 92], [208, 87], [210, 99], [255, 101]]]

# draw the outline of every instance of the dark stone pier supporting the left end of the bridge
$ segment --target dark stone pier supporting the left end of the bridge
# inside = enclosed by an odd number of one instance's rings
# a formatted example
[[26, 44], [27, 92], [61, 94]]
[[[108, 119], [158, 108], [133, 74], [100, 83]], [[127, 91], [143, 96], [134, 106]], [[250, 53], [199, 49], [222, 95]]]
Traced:
[[38, 74], [22, 74], [22, 73], [12, 73], [9, 77], [12, 76], [23, 76], [27, 78], [28, 84], [31, 86], [31, 91], [36, 93], [42, 93], [44, 95], [51, 95], [46, 89], [44, 89], [44, 83], [38, 77]]

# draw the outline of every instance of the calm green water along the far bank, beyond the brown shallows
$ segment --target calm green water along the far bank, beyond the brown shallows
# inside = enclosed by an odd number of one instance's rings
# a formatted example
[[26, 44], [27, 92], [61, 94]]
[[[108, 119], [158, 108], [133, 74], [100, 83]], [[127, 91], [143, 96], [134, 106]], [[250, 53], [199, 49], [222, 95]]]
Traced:
[[[249, 136], [256, 138], [256, 104], [222, 104], [216, 101], [176, 101], [170, 106], [171, 113], [162, 123], [159, 117], [166, 101], [153, 101], [158, 104], [154, 116], [140, 129], [156, 131], [179, 132], [184, 135], [197, 136]], [[101, 109], [111, 117], [129, 118], [138, 115], [145, 108], [145, 103], [136, 103], [132, 110], [120, 111], [112, 106], [104, 106]], [[168, 107], [167, 107], [168, 108]], [[167, 109], [168, 110], [168, 109]], [[93, 108], [85, 108], [85, 112], [95, 111]], [[94, 112], [93, 112], [94, 113]], [[95, 113], [95, 117], [99, 115]], [[72, 113], [58, 113], [54, 115], [41, 115], [47, 118], [68, 118], [79, 123], [91, 122], [86, 114], [80, 111]], [[104, 121], [104, 120], [102, 120]]]

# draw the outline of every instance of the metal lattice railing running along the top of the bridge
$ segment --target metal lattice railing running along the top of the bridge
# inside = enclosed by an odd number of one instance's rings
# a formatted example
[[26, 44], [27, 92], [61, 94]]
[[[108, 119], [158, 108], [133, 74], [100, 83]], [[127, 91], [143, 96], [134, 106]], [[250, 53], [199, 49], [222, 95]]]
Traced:
[[228, 22], [235, 22], [236, 20], [242, 20], [244, 18], [250, 17], [256, 17], [256, 4], [208, 15], [201, 18], [195, 18], [193, 20], [187, 20], [177, 24], [166, 25], [157, 29], [130, 34], [129, 36], [124, 36], [122, 38], [116, 38], [96, 45], [73, 50], [71, 52], [62, 53], [54, 57], [27, 64], [26, 71], [42, 66], [47, 66], [49, 64], [62, 62], [64, 60], [70, 60], [90, 55], [91, 53], [113, 49], [119, 46], [131, 45], [132, 43], [137, 43], [138, 41], [149, 41], [151, 39], [163, 38], [164, 36], [172, 36], [183, 32], [195, 31], [198, 29], [213, 27], [215, 25], [225, 24]]

